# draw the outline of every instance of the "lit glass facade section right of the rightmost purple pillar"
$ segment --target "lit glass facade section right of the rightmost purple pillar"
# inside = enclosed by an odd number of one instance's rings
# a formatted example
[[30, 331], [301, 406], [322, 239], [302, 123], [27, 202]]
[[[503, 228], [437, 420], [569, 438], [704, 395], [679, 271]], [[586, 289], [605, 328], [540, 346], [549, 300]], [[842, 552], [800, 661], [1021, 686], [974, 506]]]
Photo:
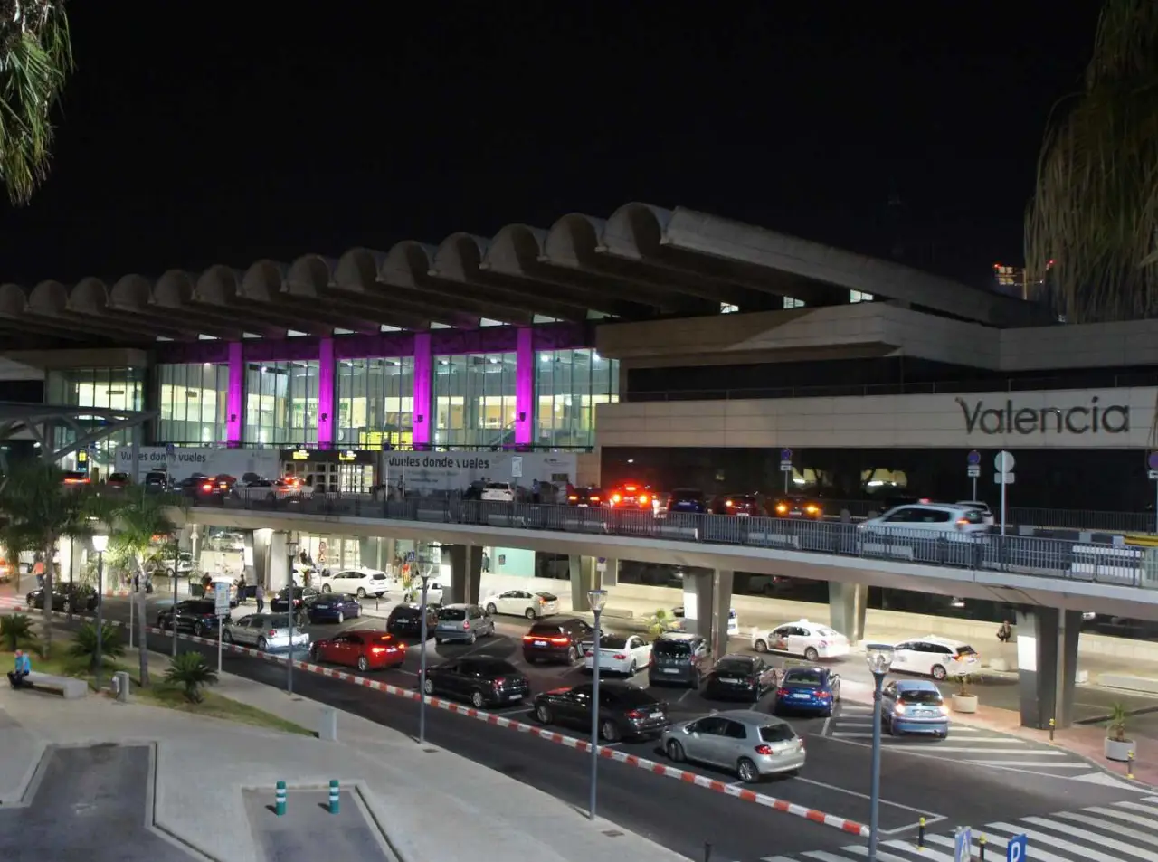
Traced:
[[595, 405], [620, 400], [618, 360], [589, 347], [537, 354], [536, 445], [595, 444]]

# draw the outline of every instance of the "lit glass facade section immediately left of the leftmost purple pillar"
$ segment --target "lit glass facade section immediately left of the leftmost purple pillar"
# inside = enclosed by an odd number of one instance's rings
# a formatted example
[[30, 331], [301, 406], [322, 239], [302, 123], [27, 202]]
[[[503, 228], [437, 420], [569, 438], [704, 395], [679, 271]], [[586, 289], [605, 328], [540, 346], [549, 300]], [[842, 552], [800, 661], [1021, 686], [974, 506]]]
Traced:
[[193, 362], [157, 367], [156, 442], [221, 445], [226, 440], [229, 367]]

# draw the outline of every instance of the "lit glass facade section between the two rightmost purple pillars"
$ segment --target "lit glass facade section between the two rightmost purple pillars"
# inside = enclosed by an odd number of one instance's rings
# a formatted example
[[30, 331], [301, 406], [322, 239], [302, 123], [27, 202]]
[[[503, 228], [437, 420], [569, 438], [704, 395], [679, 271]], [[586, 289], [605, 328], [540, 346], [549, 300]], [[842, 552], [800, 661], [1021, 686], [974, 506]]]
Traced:
[[434, 445], [513, 443], [514, 419], [514, 353], [434, 358]]

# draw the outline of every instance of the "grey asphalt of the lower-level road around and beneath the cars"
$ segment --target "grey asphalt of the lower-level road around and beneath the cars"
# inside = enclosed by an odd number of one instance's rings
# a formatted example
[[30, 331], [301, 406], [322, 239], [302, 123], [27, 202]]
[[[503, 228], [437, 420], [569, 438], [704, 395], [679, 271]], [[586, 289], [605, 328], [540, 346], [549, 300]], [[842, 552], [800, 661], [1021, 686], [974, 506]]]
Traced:
[[[162, 598], [151, 601], [154, 609], [163, 603]], [[110, 619], [127, 620], [123, 599], [108, 599], [105, 609]], [[235, 611], [234, 616], [236, 618], [239, 612]], [[151, 621], [155, 618], [155, 610], [149, 617]], [[381, 620], [361, 618], [342, 627], [313, 626], [310, 633], [316, 640], [332, 636], [340, 628], [373, 628], [380, 625]], [[525, 621], [504, 620], [496, 638], [484, 639], [471, 647], [434, 647], [432, 643], [430, 661], [446, 661], [467, 651], [507, 657], [528, 673], [536, 691], [586, 678], [581, 671], [571, 668], [525, 666], [519, 638], [526, 626]], [[149, 647], [160, 653], [168, 653], [170, 643], [164, 635], [149, 638]], [[214, 649], [210, 646], [188, 644], [184, 648], [201, 649], [215, 660]], [[410, 650], [402, 670], [375, 677], [400, 686], [413, 686], [418, 653], [417, 649]], [[859, 662], [845, 662], [842, 670], [852, 678], [857, 664]], [[227, 654], [225, 666], [242, 677], [285, 686], [286, 673], [281, 664]], [[646, 678], [642, 682], [645, 684]], [[306, 672], [295, 675], [294, 687], [305, 697], [402, 732], [417, 732], [417, 706], [411, 701]], [[670, 702], [673, 717], [677, 720], [727, 708], [726, 705], [704, 700], [694, 691], [662, 690], [657, 694]], [[757, 708], [767, 709], [768, 703], [762, 702]], [[496, 712], [532, 721], [526, 706]], [[805, 737], [808, 747], [808, 764], [802, 775], [769, 781], [755, 789], [799, 805], [867, 823], [871, 750], [867, 741], [858, 734], [865, 732], [862, 728], [867, 727], [868, 721], [871, 712], [851, 702], [842, 703], [827, 727], [822, 719], [793, 719], [792, 723]], [[516, 778], [577, 808], [586, 805], [589, 762], [581, 752], [439, 709], [427, 710], [427, 735], [434, 745]], [[653, 742], [624, 743], [617, 747], [662, 761], [662, 754]], [[1028, 753], [1034, 747], [1040, 746], [999, 734], [970, 732], [963, 727], [954, 727], [945, 743], [907, 738], [886, 741], [881, 828], [891, 839], [897, 839], [914, 833], [922, 816], [926, 817], [930, 832], [948, 832], [959, 824], [1043, 816], [1076, 805], [1105, 805], [1137, 798], [1136, 790], [1116, 783], [1094, 783], [1101, 780], [1100, 771], [1085, 761], [1070, 756]], [[437, 761], [437, 756], [432, 754], [432, 761]], [[1062, 761], [1068, 766], [1062, 766]], [[1014, 766], [1010, 767], [1010, 764]], [[733, 775], [711, 768], [690, 768], [725, 782], [735, 781]], [[1091, 775], [1099, 778], [1079, 780]], [[850, 843], [846, 833], [831, 827], [771, 812], [624, 764], [601, 761], [600, 776], [601, 815], [691, 859], [703, 859], [705, 841], [713, 845], [713, 859], [740, 862], [814, 850], [835, 852]]]

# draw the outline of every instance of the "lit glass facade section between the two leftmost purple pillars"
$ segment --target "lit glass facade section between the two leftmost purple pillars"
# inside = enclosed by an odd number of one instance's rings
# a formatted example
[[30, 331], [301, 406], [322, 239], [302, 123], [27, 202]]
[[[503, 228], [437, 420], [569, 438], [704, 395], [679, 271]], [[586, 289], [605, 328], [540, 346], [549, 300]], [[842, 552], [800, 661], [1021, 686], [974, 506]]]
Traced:
[[317, 445], [317, 360], [245, 364], [247, 445]]

